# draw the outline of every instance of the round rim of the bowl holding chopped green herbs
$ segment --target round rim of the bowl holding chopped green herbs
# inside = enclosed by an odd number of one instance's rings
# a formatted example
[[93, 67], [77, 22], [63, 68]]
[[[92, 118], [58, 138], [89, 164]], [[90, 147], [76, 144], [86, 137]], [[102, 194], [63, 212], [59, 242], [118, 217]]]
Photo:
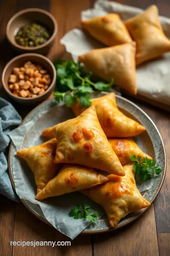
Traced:
[[[53, 29], [53, 32], [52, 32], [52, 35], [51, 37], [47, 40], [46, 43], [42, 44], [41, 46], [34, 46], [34, 47], [25, 47], [25, 46], [20, 46], [18, 45], [15, 40], [14, 42], [10, 39], [10, 36], [9, 36], [9, 27], [10, 25], [12, 24], [12, 22], [17, 18], [19, 17], [20, 15], [22, 14], [25, 14], [25, 13], [28, 13], [28, 12], [41, 12], [47, 16], [49, 16], [54, 24], [54, 29]], [[26, 51], [34, 51], [34, 50], [38, 50], [38, 49], [42, 49], [43, 47], [49, 45], [52, 40], [56, 37], [57, 35], [57, 31], [58, 31], [58, 25], [57, 25], [57, 21], [56, 19], [54, 18], [54, 16], [44, 10], [44, 9], [39, 9], [39, 8], [28, 8], [28, 9], [24, 9], [24, 10], [21, 10], [21, 11], [18, 11], [16, 14], [14, 14], [8, 21], [8, 24], [7, 24], [7, 28], [6, 28], [6, 35], [7, 35], [7, 38], [8, 38], [8, 41], [10, 42], [11, 45], [13, 45], [14, 47], [20, 49], [20, 50], [26, 50]]]

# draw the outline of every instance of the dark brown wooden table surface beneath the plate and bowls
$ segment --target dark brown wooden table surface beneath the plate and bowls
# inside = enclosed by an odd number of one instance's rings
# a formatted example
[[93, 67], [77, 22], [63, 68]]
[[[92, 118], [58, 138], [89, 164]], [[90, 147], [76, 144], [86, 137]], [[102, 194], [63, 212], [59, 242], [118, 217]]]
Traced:
[[[146, 8], [157, 4], [160, 14], [170, 16], [169, 0], [119, 0], [127, 5]], [[1, 0], [0, 1], [0, 72], [16, 53], [6, 39], [6, 25], [17, 11], [42, 8], [50, 11], [58, 22], [56, 42], [49, 58], [54, 60], [64, 53], [60, 38], [74, 27], [79, 27], [80, 12], [92, 8], [94, 0]], [[0, 96], [8, 99], [3, 90]], [[129, 97], [128, 97], [129, 98]], [[101, 235], [80, 235], [71, 247], [19, 247], [10, 241], [70, 241], [57, 230], [36, 219], [22, 203], [0, 196], [0, 256], [170, 256], [170, 113], [142, 101], [137, 102], [153, 119], [161, 132], [167, 152], [167, 174], [157, 199], [145, 214], [126, 228]], [[13, 103], [13, 102], [12, 102]], [[31, 110], [13, 103], [25, 117]]]

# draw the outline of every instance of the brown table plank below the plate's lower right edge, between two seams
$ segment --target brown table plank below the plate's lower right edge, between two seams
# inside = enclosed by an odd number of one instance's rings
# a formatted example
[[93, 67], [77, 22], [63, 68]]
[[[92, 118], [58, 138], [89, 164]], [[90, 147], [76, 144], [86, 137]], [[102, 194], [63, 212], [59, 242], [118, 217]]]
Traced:
[[116, 232], [93, 237], [94, 256], [159, 256], [154, 208]]

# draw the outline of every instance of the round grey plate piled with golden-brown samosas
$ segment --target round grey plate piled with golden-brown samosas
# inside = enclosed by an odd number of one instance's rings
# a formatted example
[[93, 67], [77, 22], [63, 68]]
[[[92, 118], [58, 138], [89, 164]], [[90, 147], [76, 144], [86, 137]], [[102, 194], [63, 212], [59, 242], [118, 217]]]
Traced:
[[[34, 184], [30, 185], [36, 187], [37, 203], [76, 192], [103, 207], [106, 215], [97, 224], [89, 225], [84, 233], [117, 229], [138, 218], [158, 195], [166, 170], [161, 135], [144, 111], [113, 92], [93, 93], [92, 96], [89, 108], [82, 108], [77, 101], [72, 106], [71, 119], [61, 115], [58, 122], [52, 114], [52, 121], [46, 119], [45, 114], [42, 118], [39, 115], [44, 107], [50, 112], [54, 100], [40, 104], [22, 122], [25, 125], [34, 119], [36, 133], [34, 139], [31, 133], [25, 134], [16, 158], [18, 163], [24, 161], [23, 165], [29, 166], [30, 173], [34, 174]], [[61, 108], [60, 104], [55, 105], [55, 110]], [[66, 108], [65, 111], [71, 110]], [[33, 141], [33, 144], [24, 148], [26, 141], [29, 145]], [[14, 188], [15, 152], [11, 144], [9, 173]], [[162, 168], [162, 173], [153, 176], [150, 187], [142, 192], [139, 192], [134, 163], [130, 160], [132, 155], [140, 156], [140, 161], [155, 159]], [[29, 200], [21, 201], [35, 216], [50, 224], [43, 214], [32, 208]]]

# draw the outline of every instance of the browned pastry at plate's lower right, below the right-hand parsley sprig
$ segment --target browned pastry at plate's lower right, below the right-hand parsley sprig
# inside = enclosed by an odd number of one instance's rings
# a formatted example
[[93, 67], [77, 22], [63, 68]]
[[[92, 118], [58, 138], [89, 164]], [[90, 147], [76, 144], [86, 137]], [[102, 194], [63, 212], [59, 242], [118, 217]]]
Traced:
[[102, 185], [81, 191], [87, 197], [102, 205], [110, 226], [115, 227], [129, 212], [150, 206], [136, 187], [133, 164], [125, 165], [125, 176], [109, 175], [109, 181]]

